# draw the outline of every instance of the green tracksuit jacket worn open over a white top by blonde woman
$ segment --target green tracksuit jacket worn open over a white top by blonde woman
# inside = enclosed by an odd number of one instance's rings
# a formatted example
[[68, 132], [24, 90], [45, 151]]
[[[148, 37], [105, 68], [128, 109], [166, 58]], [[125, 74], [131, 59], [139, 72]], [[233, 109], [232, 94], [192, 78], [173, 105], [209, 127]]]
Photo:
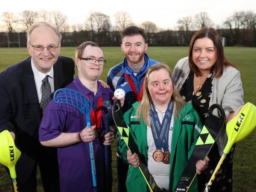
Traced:
[[[133, 104], [133, 107], [125, 113], [124, 119], [126, 124], [130, 127], [130, 134], [134, 137], [139, 147], [141, 153], [140, 160], [147, 165], [147, 126], [143, 124], [141, 120], [139, 122], [138, 119], [136, 119], [135, 113], [138, 104], [139, 102]], [[174, 122], [169, 171], [169, 191], [174, 191], [183, 169], [192, 154], [201, 129], [202, 125], [198, 113], [191, 104], [187, 103], [180, 112], [180, 117], [175, 118]], [[119, 135], [119, 137], [121, 136]], [[118, 147], [122, 153], [123, 160], [125, 163], [128, 163], [126, 158], [128, 148], [125, 142], [119, 140]], [[128, 192], [147, 191], [146, 182], [138, 168], [134, 168], [134, 166], [131, 165], [129, 166], [126, 186]], [[189, 192], [198, 192], [197, 177], [192, 183]]]

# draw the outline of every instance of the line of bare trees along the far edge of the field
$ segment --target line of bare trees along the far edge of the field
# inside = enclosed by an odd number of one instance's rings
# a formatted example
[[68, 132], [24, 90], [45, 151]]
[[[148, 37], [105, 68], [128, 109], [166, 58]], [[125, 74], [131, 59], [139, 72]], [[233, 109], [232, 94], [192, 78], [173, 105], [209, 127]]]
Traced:
[[[119, 46], [119, 32], [134, 23], [127, 12], [116, 12], [114, 18], [113, 25], [110, 16], [101, 12], [90, 12], [85, 24], [68, 26], [67, 16], [59, 11], [23, 11], [20, 17], [5, 12], [2, 14], [2, 20], [6, 23], [4, 27], [7, 32], [0, 32], [0, 47], [8, 47], [8, 41], [9, 47], [19, 47], [18, 42], [21, 47], [25, 47], [26, 29], [39, 20], [51, 23], [61, 31], [63, 47], [76, 47], [84, 41], [94, 41], [100, 46]], [[145, 29], [150, 46], [188, 46], [192, 35], [198, 29], [212, 26], [221, 37], [226, 38], [226, 46], [256, 47], [256, 14], [250, 11], [235, 12], [222, 26], [214, 26], [206, 12], [178, 19], [175, 30], [160, 29], [151, 21], [137, 26]]]

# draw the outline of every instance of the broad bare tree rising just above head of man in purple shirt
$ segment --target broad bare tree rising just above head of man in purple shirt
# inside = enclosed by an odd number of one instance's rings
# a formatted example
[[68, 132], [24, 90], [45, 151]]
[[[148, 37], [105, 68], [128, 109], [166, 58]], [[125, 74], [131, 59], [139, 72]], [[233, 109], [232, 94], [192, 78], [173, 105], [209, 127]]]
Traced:
[[87, 23], [90, 26], [90, 29], [93, 33], [93, 41], [94, 34], [97, 31], [98, 33], [98, 41], [101, 43], [100, 32], [105, 32], [110, 29], [110, 17], [108, 15], [103, 14], [102, 12], [90, 12], [89, 17], [87, 18]]

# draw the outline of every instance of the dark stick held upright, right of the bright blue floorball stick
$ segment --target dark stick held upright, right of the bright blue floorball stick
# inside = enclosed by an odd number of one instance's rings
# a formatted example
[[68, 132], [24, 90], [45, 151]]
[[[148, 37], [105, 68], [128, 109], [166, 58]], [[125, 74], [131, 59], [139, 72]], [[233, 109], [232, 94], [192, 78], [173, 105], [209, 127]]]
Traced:
[[[109, 132], [109, 115], [108, 113], [105, 114], [105, 116], [102, 117], [103, 118], [103, 122], [105, 125], [105, 134], [107, 134]], [[109, 145], [105, 145], [104, 146], [104, 151], [105, 151], [105, 170], [106, 170], [106, 174], [105, 174], [105, 191], [109, 192], [109, 182], [110, 182], [110, 166], [109, 166], [109, 151], [110, 151], [110, 146]]]

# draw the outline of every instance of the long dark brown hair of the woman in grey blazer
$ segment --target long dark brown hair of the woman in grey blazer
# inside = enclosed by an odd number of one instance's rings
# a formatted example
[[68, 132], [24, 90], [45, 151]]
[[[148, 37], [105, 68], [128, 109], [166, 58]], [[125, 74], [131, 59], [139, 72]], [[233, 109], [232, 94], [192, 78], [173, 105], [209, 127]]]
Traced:
[[195, 33], [195, 35], [193, 35], [193, 37], [190, 41], [190, 45], [189, 45], [189, 67], [196, 74], [196, 76], [201, 76], [202, 74], [192, 59], [192, 51], [193, 51], [195, 41], [200, 38], [209, 38], [213, 42], [215, 52], [216, 52], [216, 61], [211, 69], [211, 72], [213, 73], [212, 74], [213, 77], [216, 77], [216, 78], [221, 77], [224, 68], [227, 66], [234, 67], [234, 68], [238, 69], [236, 65], [231, 64], [225, 57], [223, 46], [221, 43], [221, 38], [218, 35], [218, 32], [211, 27], [203, 28], [203, 29], [198, 30]]

